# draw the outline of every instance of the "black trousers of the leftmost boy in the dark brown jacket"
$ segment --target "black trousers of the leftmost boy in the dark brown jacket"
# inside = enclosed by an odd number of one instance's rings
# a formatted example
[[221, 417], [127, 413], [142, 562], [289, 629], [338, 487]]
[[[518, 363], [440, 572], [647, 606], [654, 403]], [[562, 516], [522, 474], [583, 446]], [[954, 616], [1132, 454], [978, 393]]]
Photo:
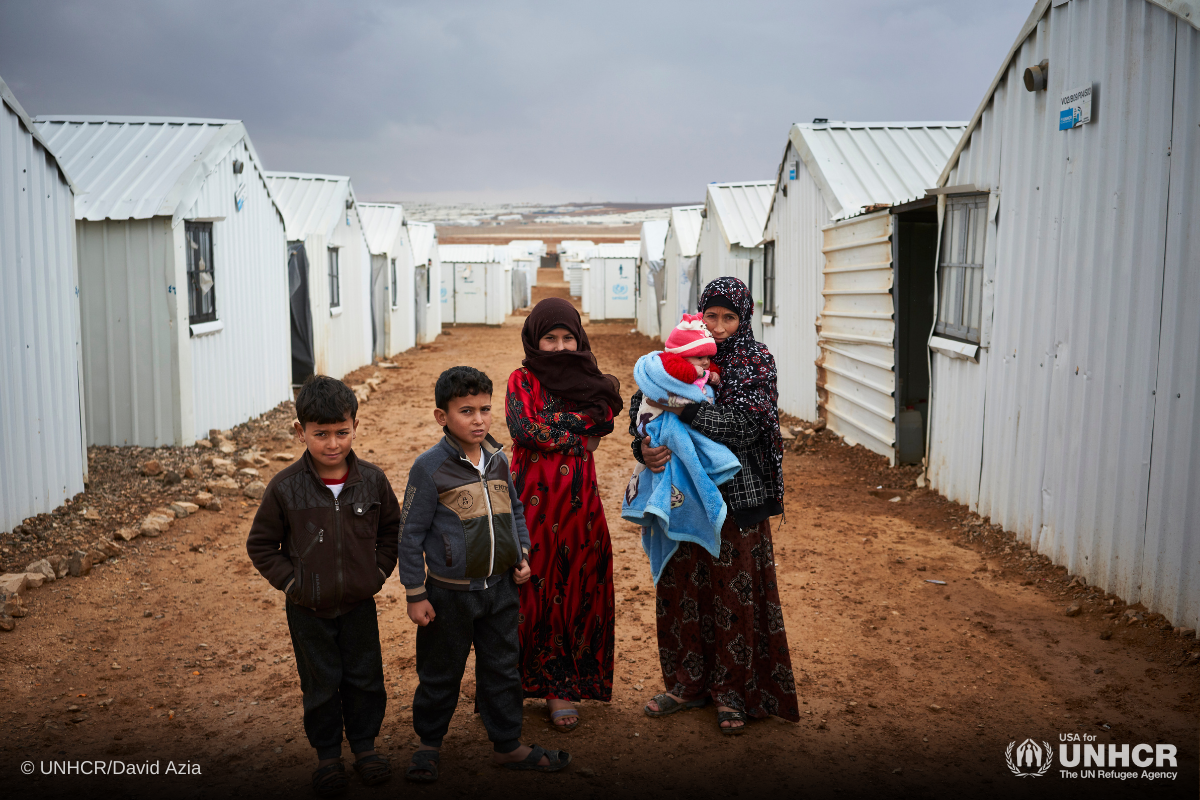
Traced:
[[341, 616], [313, 616], [287, 604], [292, 649], [304, 692], [304, 732], [317, 758], [342, 754], [342, 729], [350, 752], [374, 750], [388, 692], [374, 599]]

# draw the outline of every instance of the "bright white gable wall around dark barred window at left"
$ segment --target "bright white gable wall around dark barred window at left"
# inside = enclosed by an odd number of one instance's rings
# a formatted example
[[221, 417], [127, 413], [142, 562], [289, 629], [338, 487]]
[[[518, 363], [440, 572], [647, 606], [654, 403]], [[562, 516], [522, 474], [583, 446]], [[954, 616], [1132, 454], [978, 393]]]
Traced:
[[[238, 175], [235, 158], [245, 164]], [[238, 211], [242, 184], [246, 201]], [[245, 142], [208, 176], [184, 216], [224, 217], [212, 223], [214, 291], [224, 327], [191, 338], [194, 434], [203, 439], [292, 398], [288, 242]]]

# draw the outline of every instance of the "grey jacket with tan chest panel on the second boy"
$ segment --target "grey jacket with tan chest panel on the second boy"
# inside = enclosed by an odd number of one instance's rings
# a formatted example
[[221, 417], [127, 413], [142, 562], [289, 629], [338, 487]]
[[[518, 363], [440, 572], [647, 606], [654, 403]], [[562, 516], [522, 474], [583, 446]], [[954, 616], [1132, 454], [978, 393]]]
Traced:
[[425, 600], [426, 581], [460, 591], [486, 589], [529, 552], [509, 461], [492, 437], [482, 447], [482, 475], [449, 434], [408, 471], [397, 569], [408, 602]]

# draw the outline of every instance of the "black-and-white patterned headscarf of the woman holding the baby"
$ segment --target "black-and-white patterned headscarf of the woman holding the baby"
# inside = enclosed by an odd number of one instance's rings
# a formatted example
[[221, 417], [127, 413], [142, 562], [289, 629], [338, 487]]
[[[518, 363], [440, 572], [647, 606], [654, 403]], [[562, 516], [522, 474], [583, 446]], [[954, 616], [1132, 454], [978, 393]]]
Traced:
[[[714, 361], [721, 367], [721, 385], [716, 391], [718, 405], [728, 405], [749, 413], [758, 427], [770, 437], [767, 449], [772, 456], [772, 477], [776, 500], [784, 499], [784, 438], [779, 433], [779, 374], [775, 359], [766, 344], [754, 337], [750, 324], [754, 297], [742, 281], [733, 277], [716, 278], [704, 287], [700, 296], [700, 313], [712, 306], [728, 308], [738, 315], [737, 332], [716, 343]], [[767, 467], [766, 464], [763, 467]]]

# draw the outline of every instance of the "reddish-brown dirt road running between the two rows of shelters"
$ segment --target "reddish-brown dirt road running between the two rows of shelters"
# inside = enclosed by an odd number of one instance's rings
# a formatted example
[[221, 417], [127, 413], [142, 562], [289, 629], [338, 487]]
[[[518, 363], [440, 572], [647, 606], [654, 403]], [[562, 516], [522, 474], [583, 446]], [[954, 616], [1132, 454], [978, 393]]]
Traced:
[[[564, 293], [545, 279], [538, 296]], [[359, 453], [403, 487], [410, 461], [442, 435], [431, 414], [437, 374], [476, 366], [503, 391], [521, 357], [522, 319], [449, 329], [436, 344], [397, 356], [360, 411]], [[622, 379], [626, 397], [635, 359], [653, 349], [629, 327], [588, 327], [600, 363]], [[503, 408], [499, 397], [496, 407]], [[263, 429], [264, 447], [281, 449], [271, 433]], [[508, 444], [499, 415], [493, 434]], [[569, 750], [571, 769], [541, 776], [490, 766], [482, 726], [470, 714], [468, 670], [442, 781], [422, 788], [397, 776], [380, 789], [353, 782], [348, 796], [707, 798], [767, 789], [1196, 796], [1194, 638], [1163, 630], [1160, 618], [1127, 624], [1120, 599], [1069, 585], [1064, 571], [1002, 531], [917, 489], [913, 470], [889, 470], [829, 437], [787, 453], [787, 519], [775, 521], [802, 722], [755, 722], [728, 739], [718, 735], [712, 709], [644, 717], [642, 703], [662, 687], [647, 561], [637, 530], [619, 518], [630, 464], [629, 439], [618, 429], [596, 453], [616, 553], [613, 702], [583, 703], [583, 723], [571, 734], [551, 730], [540, 703], [526, 706], [524, 739]], [[134, 540], [86, 578], [30, 594], [29, 615], [0, 633], [6, 795], [308, 796], [314, 759], [301, 728], [282, 599], [245, 552], [253, 510], [251, 501], [227, 501], [222, 512], [181, 519], [160, 539]], [[1070, 604], [1080, 607], [1076, 615], [1064, 614]], [[379, 745], [402, 766], [415, 741], [414, 626], [395, 578], [378, 607], [390, 698]], [[1061, 734], [1172, 744], [1178, 777], [1062, 778]], [[1018, 778], [1006, 764], [1009, 742], [1026, 738], [1055, 750], [1055, 766], [1042, 778]], [[52, 762], [83, 759], [157, 763], [158, 775], [41, 775]], [[35, 765], [28, 777], [20, 774], [26, 760]], [[198, 774], [168, 774], [169, 762]]]

